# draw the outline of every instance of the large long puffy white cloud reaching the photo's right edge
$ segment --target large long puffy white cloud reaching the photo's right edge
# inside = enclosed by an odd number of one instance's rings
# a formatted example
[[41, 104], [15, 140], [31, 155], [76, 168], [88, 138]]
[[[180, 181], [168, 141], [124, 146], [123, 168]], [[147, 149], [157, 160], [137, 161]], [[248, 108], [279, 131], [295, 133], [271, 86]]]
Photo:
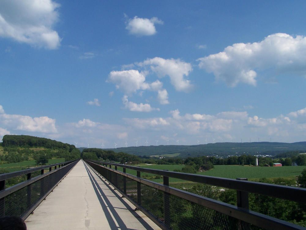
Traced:
[[234, 87], [238, 83], [256, 86], [257, 71], [274, 68], [277, 73], [306, 73], [306, 38], [276, 33], [254, 43], [237, 43], [223, 52], [199, 58], [199, 67], [216, 80]]

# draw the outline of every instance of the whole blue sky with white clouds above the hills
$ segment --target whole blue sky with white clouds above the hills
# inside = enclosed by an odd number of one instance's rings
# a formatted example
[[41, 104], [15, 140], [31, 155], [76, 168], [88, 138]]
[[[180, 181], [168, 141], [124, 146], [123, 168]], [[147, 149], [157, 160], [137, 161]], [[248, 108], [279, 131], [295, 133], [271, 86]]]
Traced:
[[305, 5], [3, 0], [0, 138], [305, 141]]

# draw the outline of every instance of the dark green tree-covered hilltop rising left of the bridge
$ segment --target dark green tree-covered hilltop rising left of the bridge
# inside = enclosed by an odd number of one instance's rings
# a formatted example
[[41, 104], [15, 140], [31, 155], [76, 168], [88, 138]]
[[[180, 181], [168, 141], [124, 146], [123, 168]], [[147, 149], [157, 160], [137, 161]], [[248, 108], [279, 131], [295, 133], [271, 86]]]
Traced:
[[3, 136], [2, 141], [3, 147], [44, 147], [51, 149], [65, 149], [69, 152], [75, 149], [75, 146], [71, 144], [65, 144], [56, 140], [27, 135], [5, 135]]

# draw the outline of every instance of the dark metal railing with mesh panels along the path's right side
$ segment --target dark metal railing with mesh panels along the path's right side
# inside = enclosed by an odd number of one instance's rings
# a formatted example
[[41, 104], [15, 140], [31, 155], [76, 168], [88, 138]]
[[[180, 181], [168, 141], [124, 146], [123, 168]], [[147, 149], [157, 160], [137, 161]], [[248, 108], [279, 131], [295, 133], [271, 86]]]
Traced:
[[[251, 182], [246, 178], [235, 180], [108, 162], [85, 162], [162, 229], [305, 229], [251, 211], [248, 203], [248, 193], [254, 193], [305, 204], [304, 188]], [[122, 167], [123, 172], [117, 167]], [[137, 176], [127, 174], [126, 169], [137, 171]], [[141, 178], [141, 172], [163, 176], [163, 184]], [[169, 177], [237, 190], [237, 206], [170, 187]]]

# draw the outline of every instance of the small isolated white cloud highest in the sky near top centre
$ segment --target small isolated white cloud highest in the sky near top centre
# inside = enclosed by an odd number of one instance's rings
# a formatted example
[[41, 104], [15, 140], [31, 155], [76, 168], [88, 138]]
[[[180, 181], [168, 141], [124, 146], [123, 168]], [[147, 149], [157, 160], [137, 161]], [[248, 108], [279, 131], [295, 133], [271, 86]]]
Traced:
[[156, 33], [154, 24], [164, 24], [164, 22], [157, 17], [140, 18], [135, 16], [133, 19], [126, 21], [126, 27], [130, 34], [137, 36], [150, 36]]

